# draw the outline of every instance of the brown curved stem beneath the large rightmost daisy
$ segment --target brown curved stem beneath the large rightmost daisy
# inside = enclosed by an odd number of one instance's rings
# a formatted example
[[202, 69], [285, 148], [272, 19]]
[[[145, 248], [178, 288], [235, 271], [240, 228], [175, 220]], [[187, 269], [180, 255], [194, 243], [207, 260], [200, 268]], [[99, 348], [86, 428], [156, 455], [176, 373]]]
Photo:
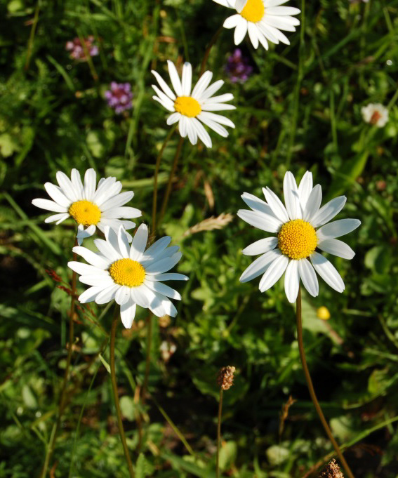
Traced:
[[321, 406], [319, 405], [317, 395], [315, 394], [314, 385], [312, 385], [312, 380], [310, 376], [310, 371], [308, 370], [307, 361], [305, 360], [305, 351], [304, 351], [304, 343], [303, 343], [303, 326], [301, 324], [301, 291], [298, 288], [298, 296], [296, 301], [296, 318], [297, 318], [297, 340], [298, 340], [298, 350], [300, 352], [300, 359], [301, 364], [303, 364], [303, 370], [305, 375], [305, 380], [307, 381], [308, 390], [310, 391], [310, 396], [312, 402], [314, 404], [315, 410], [318, 413], [319, 419], [321, 420], [322, 425], [324, 426], [325, 432], [328, 435], [330, 441], [333, 444], [334, 449], [336, 450], [337, 456], [340, 459], [343, 467], [345, 468], [345, 472], [347, 473], [348, 478], [354, 478], [350, 467], [347, 465], [343, 453], [338, 446], [338, 443], [333, 437], [331, 429], [329, 428], [328, 423], [326, 422], [326, 418], [324, 413], [322, 412]]

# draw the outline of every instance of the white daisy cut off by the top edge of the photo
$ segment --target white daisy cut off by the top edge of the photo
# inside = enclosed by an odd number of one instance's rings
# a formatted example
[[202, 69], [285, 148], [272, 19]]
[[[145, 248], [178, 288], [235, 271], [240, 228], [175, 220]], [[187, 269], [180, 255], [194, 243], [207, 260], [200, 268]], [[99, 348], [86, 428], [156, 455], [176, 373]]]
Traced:
[[225, 20], [225, 28], [234, 28], [234, 42], [239, 45], [248, 32], [254, 48], [258, 42], [268, 49], [268, 41], [274, 44], [290, 45], [287, 37], [281, 32], [296, 32], [300, 20], [292, 17], [300, 13], [298, 8], [280, 6], [288, 0], [214, 0], [216, 3], [237, 11]]

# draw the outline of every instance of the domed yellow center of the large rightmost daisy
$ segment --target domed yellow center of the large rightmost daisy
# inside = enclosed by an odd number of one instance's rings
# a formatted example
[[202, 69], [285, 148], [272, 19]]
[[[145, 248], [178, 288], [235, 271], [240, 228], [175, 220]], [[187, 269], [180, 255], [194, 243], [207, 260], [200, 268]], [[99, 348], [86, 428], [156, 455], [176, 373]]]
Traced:
[[317, 247], [317, 233], [314, 227], [303, 219], [285, 223], [278, 233], [278, 247], [291, 259], [304, 259]]

